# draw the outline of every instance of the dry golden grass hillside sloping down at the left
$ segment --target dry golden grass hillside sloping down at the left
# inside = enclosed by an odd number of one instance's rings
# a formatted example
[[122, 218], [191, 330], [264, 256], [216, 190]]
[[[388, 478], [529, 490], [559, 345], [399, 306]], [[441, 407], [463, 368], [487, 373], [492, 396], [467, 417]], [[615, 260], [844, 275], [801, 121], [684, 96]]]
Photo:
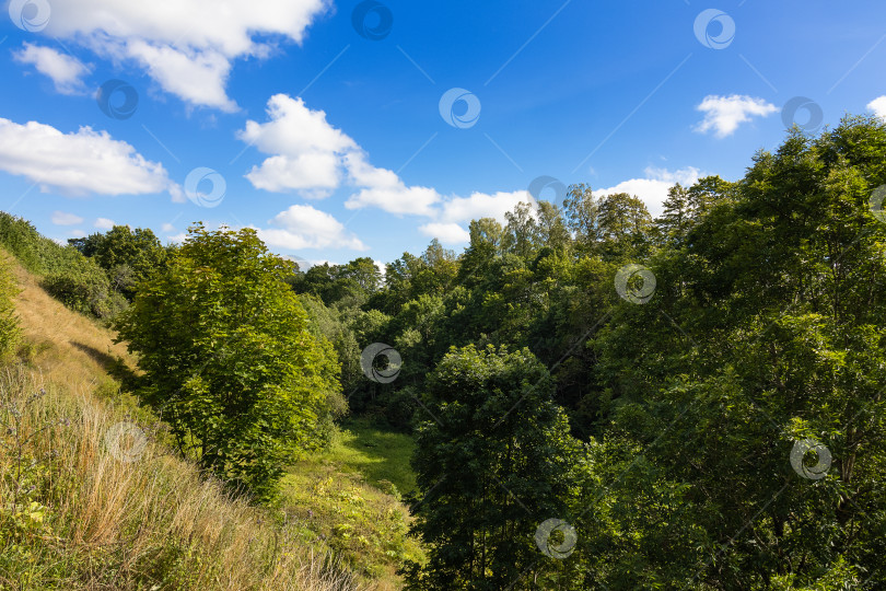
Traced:
[[[366, 587], [298, 524], [226, 498], [153, 441], [108, 374], [135, 367], [125, 347], [14, 274], [26, 363], [0, 371], [0, 589]], [[150, 439], [131, 463], [104, 441], [127, 418]]]

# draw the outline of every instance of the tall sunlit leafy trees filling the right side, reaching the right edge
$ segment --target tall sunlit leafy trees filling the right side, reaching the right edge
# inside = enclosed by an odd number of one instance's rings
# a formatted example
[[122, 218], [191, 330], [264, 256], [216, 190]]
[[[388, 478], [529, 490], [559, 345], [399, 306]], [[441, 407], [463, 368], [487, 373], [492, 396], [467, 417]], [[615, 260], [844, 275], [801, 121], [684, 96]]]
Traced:
[[[592, 536], [594, 582], [883, 584], [886, 224], [868, 201], [884, 160], [886, 126], [848, 119], [758, 153], [737, 184], [672, 192], [655, 299], [621, 304], [592, 344], [601, 505], [630, 507]], [[832, 456], [821, 479], [792, 468], [807, 439]]]

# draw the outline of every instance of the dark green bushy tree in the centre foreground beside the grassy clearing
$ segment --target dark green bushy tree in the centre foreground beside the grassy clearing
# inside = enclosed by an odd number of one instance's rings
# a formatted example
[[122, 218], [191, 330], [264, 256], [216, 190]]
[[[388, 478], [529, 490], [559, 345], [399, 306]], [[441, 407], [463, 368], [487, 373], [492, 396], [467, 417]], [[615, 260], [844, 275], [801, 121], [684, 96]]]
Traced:
[[424, 494], [413, 531], [429, 559], [407, 568], [409, 589], [521, 589], [564, 568], [534, 535], [548, 519], [569, 522], [586, 459], [552, 389], [526, 349], [470, 345], [438, 364], [423, 395], [434, 418], [421, 424], [412, 462]]

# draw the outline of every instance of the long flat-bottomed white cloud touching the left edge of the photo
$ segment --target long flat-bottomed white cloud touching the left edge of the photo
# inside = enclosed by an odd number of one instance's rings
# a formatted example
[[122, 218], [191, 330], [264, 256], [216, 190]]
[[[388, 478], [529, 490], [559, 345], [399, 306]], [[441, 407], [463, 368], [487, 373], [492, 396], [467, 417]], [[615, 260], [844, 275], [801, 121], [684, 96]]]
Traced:
[[141, 195], [175, 190], [163, 165], [107, 131], [62, 134], [37, 121], [0, 118], [0, 170], [68, 194]]

